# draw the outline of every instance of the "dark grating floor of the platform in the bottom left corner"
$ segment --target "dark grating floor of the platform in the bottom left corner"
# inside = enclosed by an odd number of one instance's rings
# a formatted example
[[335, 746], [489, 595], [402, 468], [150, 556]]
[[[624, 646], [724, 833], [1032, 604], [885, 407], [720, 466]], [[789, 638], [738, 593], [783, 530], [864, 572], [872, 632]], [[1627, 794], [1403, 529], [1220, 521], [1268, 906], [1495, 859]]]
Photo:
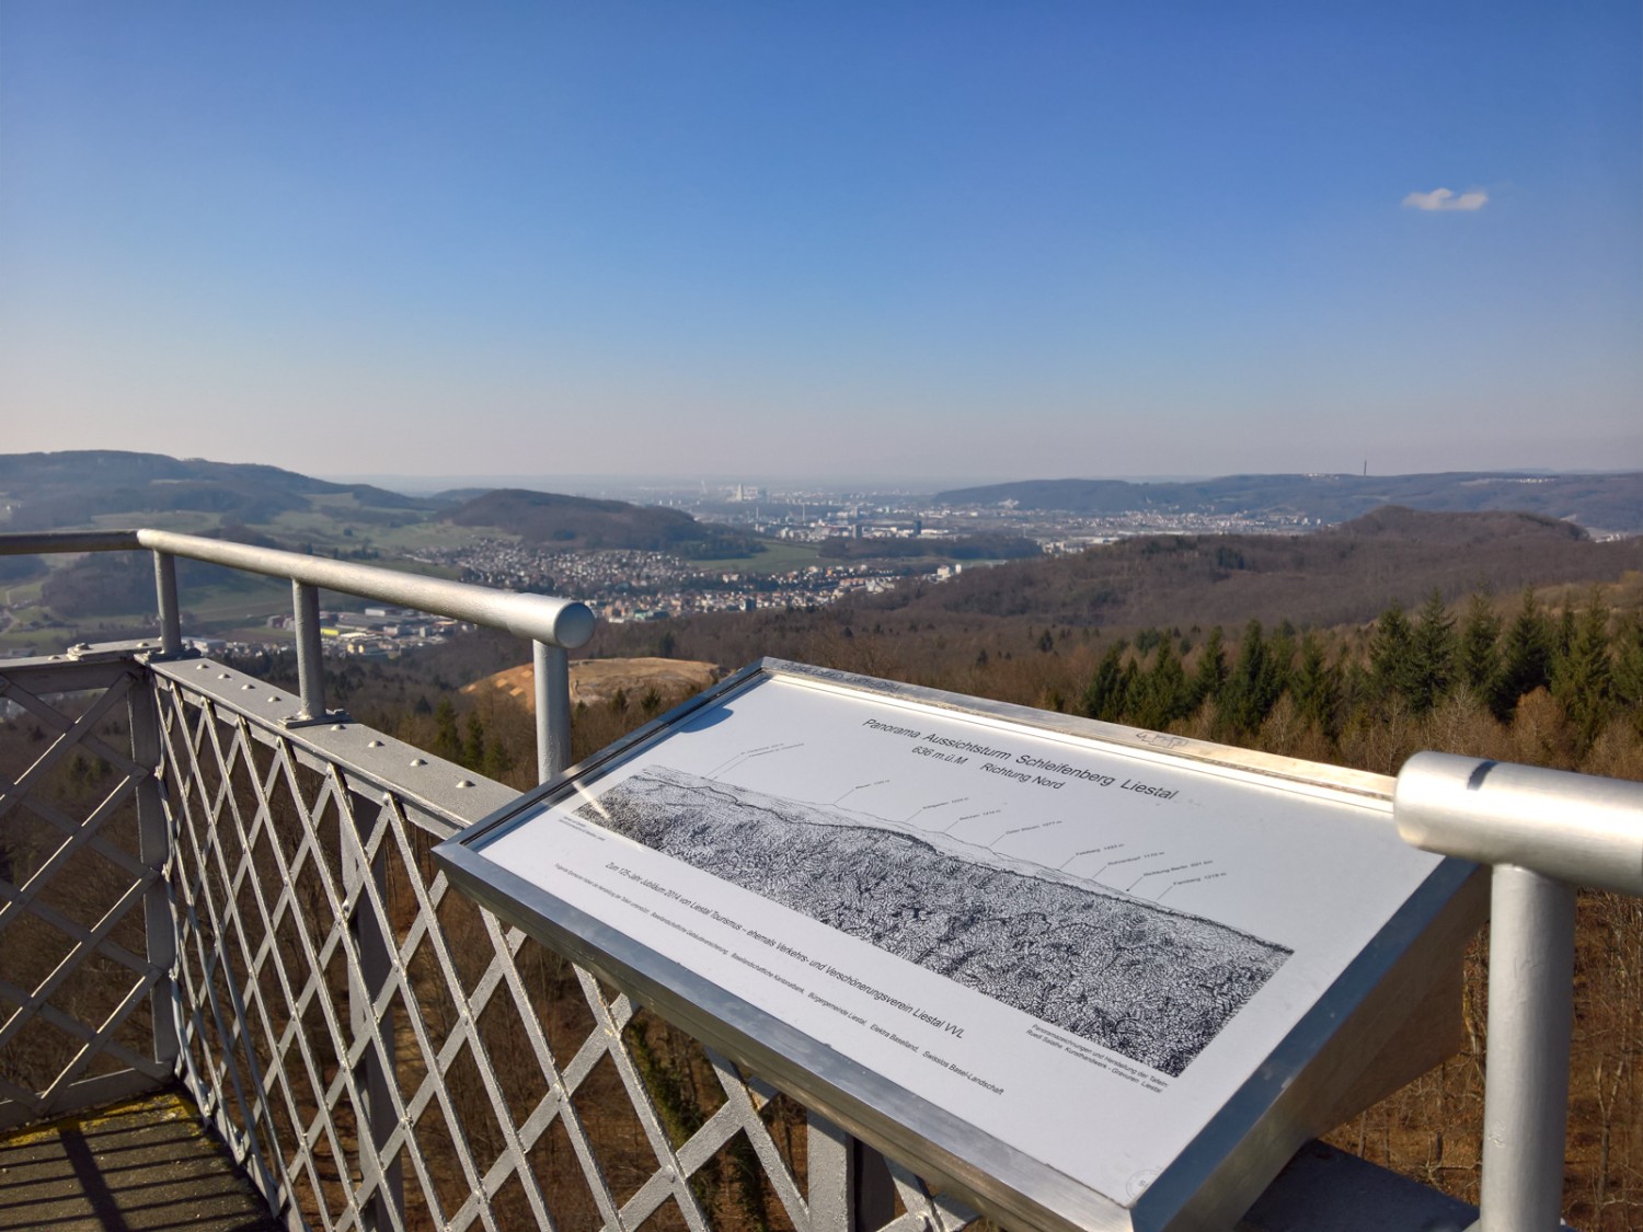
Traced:
[[177, 1091], [0, 1137], [0, 1229], [274, 1232], [281, 1225]]

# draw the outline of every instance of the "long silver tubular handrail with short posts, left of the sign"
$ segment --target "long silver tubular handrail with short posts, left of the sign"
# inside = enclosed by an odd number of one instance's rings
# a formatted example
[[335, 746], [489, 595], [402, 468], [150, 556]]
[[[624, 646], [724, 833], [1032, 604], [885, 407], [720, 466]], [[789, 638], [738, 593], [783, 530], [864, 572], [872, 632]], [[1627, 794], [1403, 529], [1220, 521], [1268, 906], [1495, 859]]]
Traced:
[[414, 608], [450, 619], [501, 629], [534, 642], [537, 672], [537, 772], [545, 782], [570, 764], [570, 670], [567, 650], [593, 636], [593, 611], [577, 600], [524, 595], [475, 586], [465, 582], [401, 573], [350, 560], [327, 560], [302, 552], [233, 544], [171, 531], [51, 531], [0, 536], [0, 555], [51, 555], [59, 552], [154, 554], [154, 590], [161, 623], [161, 652], [182, 649], [176, 559], [202, 560], [246, 573], [289, 578], [297, 634], [297, 678], [302, 711], [299, 723], [334, 718], [325, 710], [320, 670], [319, 588]]

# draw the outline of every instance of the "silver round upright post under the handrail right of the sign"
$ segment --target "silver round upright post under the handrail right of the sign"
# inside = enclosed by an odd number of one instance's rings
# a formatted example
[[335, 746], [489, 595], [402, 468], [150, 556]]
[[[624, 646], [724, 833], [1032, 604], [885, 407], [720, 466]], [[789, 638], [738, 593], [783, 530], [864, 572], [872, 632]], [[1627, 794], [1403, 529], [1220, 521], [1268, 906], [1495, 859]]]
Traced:
[[1495, 867], [1489, 935], [1482, 1232], [1553, 1232], [1562, 1209], [1574, 887]]

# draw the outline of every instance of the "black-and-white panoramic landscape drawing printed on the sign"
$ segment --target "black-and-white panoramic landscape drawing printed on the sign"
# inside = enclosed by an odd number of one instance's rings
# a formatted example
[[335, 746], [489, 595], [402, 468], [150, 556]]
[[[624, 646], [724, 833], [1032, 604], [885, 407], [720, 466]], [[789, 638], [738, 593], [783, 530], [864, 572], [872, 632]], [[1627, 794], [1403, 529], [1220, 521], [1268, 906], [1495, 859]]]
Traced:
[[577, 815], [1170, 1076], [1293, 953], [664, 765]]

